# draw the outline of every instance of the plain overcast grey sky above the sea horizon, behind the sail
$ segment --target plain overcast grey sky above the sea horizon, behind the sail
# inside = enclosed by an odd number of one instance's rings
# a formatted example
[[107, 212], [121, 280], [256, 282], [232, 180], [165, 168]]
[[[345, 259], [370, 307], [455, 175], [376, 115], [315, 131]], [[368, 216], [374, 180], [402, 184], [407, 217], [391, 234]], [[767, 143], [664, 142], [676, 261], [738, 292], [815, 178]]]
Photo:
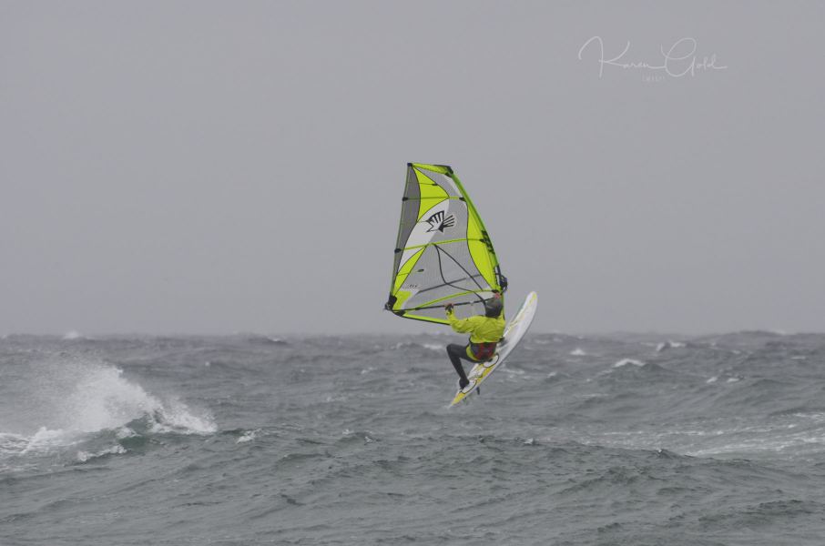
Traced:
[[[0, 0], [0, 335], [440, 331], [382, 311], [408, 161], [462, 178], [535, 331], [823, 331], [823, 31], [813, 1]], [[717, 68], [600, 77], [593, 36]]]

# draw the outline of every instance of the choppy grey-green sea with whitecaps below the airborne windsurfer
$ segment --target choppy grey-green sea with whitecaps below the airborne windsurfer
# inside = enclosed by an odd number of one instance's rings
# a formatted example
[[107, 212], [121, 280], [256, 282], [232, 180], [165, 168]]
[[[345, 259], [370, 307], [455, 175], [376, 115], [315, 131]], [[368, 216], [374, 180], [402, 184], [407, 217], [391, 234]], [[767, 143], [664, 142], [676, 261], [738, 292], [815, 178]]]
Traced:
[[825, 543], [825, 336], [0, 339], [0, 544]]

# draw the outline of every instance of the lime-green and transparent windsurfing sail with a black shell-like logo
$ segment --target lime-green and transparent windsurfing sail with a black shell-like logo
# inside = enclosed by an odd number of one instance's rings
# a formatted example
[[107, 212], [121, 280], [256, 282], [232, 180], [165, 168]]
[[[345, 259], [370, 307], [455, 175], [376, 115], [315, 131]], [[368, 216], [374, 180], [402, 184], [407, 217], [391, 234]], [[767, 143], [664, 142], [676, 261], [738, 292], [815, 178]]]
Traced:
[[449, 324], [484, 314], [484, 301], [503, 292], [493, 242], [473, 201], [446, 165], [407, 164], [401, 223], [386, 308], [404, 319]]

